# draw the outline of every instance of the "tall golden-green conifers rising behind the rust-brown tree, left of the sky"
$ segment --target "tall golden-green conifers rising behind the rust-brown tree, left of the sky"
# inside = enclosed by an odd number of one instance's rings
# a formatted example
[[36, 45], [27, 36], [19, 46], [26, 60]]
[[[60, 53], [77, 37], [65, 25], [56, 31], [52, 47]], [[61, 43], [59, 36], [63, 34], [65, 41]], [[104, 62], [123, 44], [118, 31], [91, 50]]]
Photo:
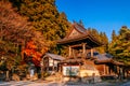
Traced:
[[17, 8], [22, 16], [28, 18], [34, 29], [43, 34], [50, 45], [50, 52], [56, 52], [54, 41], [65, 37], [69, 23], [65, 13], [58, 13], [56, 10], [55, 0], [10, 1]]

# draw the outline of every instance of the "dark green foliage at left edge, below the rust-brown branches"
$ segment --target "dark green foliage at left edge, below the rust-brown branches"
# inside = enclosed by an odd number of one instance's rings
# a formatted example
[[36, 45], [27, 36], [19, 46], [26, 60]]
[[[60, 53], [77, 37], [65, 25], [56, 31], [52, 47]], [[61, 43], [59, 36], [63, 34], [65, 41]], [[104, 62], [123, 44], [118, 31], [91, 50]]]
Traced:
[[1, 41], [0, 45], [0, 70], [12, 70], [15, 66], [21, 64], [21, 48], [16, 44]]

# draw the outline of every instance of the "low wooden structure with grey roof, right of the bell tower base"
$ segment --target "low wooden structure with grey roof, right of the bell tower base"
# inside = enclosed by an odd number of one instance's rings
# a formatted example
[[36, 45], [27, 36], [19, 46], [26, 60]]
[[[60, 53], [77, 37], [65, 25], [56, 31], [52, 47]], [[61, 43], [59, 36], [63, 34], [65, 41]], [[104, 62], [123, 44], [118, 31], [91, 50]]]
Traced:
[[96, 55], [94, 63], [103, 66], [104, 69], [101, 70], [101, 72], [104, 71], [103, 75], [119, 75], [122, 72], [123, 63], [113, 59], [109, 54]]

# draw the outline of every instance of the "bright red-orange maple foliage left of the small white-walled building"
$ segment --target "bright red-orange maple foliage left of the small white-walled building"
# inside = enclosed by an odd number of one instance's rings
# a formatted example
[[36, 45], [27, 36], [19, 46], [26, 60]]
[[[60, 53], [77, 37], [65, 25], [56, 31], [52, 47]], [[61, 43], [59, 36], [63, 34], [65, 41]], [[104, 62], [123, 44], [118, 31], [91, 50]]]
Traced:
[[26, 55], [23, 59], [31, 58], [29, 61], [34, 62], [36, 67], [40, 66], [42, 54], [37, 51], [37, 46], [32, 41], [29, 41], [23, 53]]

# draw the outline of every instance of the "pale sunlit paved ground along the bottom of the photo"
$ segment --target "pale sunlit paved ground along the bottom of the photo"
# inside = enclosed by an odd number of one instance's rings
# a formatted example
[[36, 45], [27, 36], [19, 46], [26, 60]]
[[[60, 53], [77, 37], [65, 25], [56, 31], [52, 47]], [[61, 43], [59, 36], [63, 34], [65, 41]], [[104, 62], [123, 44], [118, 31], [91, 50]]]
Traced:
[[60, 83], [60, 82], [48, 82], [48, 81], [20, 81], [20, 82], [0, 82], [0, 86], [130, 86], [130, 82], [127, 83], [94, 83], [94, 84], [84, 84], [84, 83]]

